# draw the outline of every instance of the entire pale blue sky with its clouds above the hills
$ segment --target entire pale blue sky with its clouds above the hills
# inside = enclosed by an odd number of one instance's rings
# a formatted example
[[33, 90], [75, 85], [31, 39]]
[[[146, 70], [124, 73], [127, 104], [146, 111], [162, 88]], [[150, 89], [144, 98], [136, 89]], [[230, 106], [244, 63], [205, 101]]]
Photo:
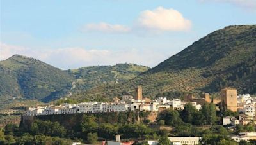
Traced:
[[0, 60], [60, 69], [154, 67], [228, 25], [256, 24], [256, 0], [0, 0]]

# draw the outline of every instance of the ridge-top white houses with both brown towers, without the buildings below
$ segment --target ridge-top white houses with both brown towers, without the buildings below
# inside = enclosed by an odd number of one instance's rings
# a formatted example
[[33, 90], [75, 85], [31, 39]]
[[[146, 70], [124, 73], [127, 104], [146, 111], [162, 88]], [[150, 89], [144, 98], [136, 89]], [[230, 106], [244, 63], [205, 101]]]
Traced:
[[[60, 104], [54, 106], [29, 107], [24, 115], [54, 115], [54, 114], [77, 114], [77, 113], [106, 113], [106, 112], [125, 112], [125, 111], [162, 111], [163, 109], [183, 110], [184, 105], [191, 103], [197, 110], [207, 103], [219, 104], [221, 101], [231, 111], [238, 111], [248, 116], [255, 117], [256, 99], [250, 97], [250, 94], [239, 94], [234, 88], [225, 88], [221, 90], [221, 99], [212, 99], [209, 93], [204, 93], [202, 98], [195, 98], [193, 95], [187, 95], [184, 100], [168, 100], [166, 97], [159, 97], [155, 100], [148, 99], [142, 95], [142, 87], [135, 88], [135, 97], [132, 95], [123, 95], [121, 99], [113, 98], [112, 102], [81, 102], [79, 104]], [[218, 108], [217, 108], [218, 109]], [[228, 116], [226, 117], [228, 118]], [[224, 118], [225, 119], [225, 118]], [[243, 120], [246, 121], [246, 120]], [[248, 121], [248, 120], [247, 120]]]

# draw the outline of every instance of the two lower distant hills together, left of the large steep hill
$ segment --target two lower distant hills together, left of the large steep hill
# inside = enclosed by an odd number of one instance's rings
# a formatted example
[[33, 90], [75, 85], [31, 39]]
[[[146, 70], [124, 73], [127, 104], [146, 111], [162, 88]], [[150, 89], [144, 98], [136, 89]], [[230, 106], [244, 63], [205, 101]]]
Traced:
[[13, 55], [0, 61], [0, 104], [13, 99], [49, 102], [102, 84], [121, 83], [148, 69], [116, 64], [63, 71], [31, 57]]

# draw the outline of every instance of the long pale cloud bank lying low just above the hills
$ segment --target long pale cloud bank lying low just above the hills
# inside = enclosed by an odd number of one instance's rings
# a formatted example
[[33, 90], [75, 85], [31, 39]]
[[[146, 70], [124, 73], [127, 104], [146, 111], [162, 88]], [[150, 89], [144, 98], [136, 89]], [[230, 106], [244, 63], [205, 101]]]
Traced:
[[154, 50], [127, 49], [111, 51], [86, 50], [84, 48], [35, 50], [0, 43], [0, 60], [7, 59], [14, 54], [33, 57], [61, 69], [74, 69], [93, 65], [113, 65], [125, 62], [154, 67], [170, 56], [170, 54]]

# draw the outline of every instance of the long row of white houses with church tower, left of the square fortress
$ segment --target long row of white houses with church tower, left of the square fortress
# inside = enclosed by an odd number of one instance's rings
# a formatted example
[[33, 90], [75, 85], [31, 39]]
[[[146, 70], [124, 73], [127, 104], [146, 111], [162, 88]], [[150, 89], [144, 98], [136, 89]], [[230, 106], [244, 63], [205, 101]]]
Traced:
[[[106, 113], [106, 112], [125, 112], [125, 111], [161, 111], [163, 109], [184, 109], [184, 105], [191, 102], [196, 109], [200, 109], [204, 99], [182, 101], [180, 99], [168, 100], [166, 97], [159, 97], [150, 100], [142, 95], [142, 87], [135, 88], [136, 96], [123, 95], [122, 99], [115, 97], [112, 102], [81, 102], [79, 104], [61, 104], [54, 106], [29, 107], [26, 116], [54, 115], [54, 114], [77, 114], [77, 113]], [[205, 95], [209, 97], [209, 95]], [[190, 96], [191, 97], [191, 96]], [[207, 98], [208, 99], [208, 98]]]

